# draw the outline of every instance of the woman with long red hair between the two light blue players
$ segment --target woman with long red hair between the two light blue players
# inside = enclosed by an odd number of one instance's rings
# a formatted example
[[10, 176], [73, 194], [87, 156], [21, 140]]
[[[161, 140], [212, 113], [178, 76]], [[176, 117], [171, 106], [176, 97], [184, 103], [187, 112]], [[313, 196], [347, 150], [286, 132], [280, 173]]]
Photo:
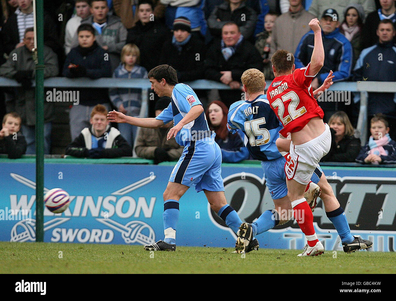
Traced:
[[216, 133], [215, 141], [221, 149], [222, 162], [237, 163], [249, 159], [249, 151], [245, 147], [241, 136], [231, 134], [227, 130], [228, 109], [226, 105], [215, 100], [209, 103], [206, 110], [206, 119], [209, 129]]

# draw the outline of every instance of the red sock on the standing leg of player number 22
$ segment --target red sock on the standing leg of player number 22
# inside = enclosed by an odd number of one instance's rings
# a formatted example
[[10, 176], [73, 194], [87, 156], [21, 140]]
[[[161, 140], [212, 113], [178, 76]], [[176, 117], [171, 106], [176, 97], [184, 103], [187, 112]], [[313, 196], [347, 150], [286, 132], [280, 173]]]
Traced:
[[[308, 237], [310, 235], [314, 235], [314, 216], [305, 198], [292, 201], [291, 207], [293, 207], [294, 218], [297, 220], [297, 223], [305, 236]], [[318, 241], [319, 240], [316, 238], [314, 240], [307, 240], [307, 243], [309, 246], [314, 246]]]

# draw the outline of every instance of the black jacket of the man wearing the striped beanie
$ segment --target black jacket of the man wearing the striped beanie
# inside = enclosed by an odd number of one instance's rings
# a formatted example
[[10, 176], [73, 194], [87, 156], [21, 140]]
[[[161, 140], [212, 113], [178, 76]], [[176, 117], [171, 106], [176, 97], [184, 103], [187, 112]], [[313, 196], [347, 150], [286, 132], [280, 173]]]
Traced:
[[[181, 51], [168, 39], [162, 46], [160, 64], [168, 64], [177, 71], [179, 83], [204, 78], [205, 45], [202, 40], [191, 35], [190, 41]], [[199, 56], [198, 56], [199, 55]]]

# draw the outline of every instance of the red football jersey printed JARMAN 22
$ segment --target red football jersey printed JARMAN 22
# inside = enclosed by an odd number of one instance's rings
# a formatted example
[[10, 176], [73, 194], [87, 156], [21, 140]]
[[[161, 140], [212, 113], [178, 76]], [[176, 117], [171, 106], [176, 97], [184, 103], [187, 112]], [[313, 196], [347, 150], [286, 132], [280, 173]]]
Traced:
[[275, 112], [284, 128], [282, 136], [302, 130], [314, 117], [323, 119], [323, 110], [313, 97], [311, 87], [314, 76], [308, 75], [307, 67], [294, 70], [292, 74], [275, 77], [267, 90], [271, 109]]

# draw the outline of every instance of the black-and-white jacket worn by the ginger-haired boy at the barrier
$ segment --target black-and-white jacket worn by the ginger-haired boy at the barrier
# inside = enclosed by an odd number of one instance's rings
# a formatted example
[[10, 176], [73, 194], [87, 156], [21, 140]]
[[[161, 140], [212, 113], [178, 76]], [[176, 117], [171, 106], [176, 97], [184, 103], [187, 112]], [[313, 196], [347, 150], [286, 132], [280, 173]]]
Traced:
[[[84, 130], [86, 131], [87, 128]], [[110, 130], [109, 130], [110, 129]], [[95, 158], [117, 158], [117, 157], [128, 157], [132, 156], [132, 148], [129, 146], [128, 142], [120, 135], [119, 131], [115, 128], [109, 128], [108, 136], [111, 137], [111, 131], [114, 131], [116, 137], [114, 137], [113, 141], [110, 141], [111, 148], [98, 148], [96, 149], [99, 153]], [[81, 131], [80, 135], [70, 143], [66, 148], [66, 154], [74, 157], [89, 157], [89, 150], [91, 149], [86, 145], [86, 140], [84, 138], [84, 130]], [[89, 132], [92, 134], [92, 132]], [[103, 134], [101, 137], [105, 137], [107, 133]], [[99, 137], [98, 137], [99, 138]], [[91, 139], [91, 135], [88, 135], [88, 139]], [[110, 138], [108, 138], [110, 139]]]

